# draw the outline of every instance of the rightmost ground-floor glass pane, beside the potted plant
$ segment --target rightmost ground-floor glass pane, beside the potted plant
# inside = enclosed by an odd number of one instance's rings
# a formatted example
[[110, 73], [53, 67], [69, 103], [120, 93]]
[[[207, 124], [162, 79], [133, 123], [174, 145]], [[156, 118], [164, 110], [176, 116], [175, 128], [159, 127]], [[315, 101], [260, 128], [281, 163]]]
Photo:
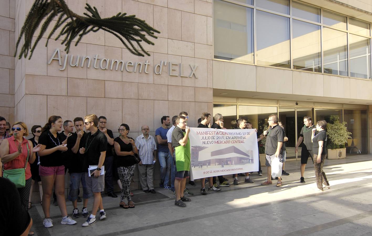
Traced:
[[346, 121], [346, 128], [351, 132], [350, 136], [352, 137], [347, 140], [346, 153], [367, 153], [367, 111], [344, 110], [344, 121]]

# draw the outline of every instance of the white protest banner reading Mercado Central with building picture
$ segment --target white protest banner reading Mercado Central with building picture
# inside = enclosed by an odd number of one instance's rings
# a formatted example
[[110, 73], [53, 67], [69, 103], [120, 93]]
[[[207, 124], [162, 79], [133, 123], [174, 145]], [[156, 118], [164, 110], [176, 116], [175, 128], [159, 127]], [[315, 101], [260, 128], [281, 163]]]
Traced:
[[254, 129], [190, 128], [189, 139], [194, 179], [258, 171]]

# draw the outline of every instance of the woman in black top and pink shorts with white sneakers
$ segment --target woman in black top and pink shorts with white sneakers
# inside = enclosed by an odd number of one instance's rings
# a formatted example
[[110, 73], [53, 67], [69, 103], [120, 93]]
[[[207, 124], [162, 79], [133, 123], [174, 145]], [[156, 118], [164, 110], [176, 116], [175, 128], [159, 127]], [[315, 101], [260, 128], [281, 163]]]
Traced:
[[50, 219], [50, 199], [54, 186], [58, 206], [62, 214], [61, 224], [76, 224], [76, 221], [67, 216], [65, 201], [65, 167], [62, 152], [67, 151], [67, 146], [62, 144], [58, 132], [63, 126], [60, 116], [51, 116], [48, 123], [41, 130], [39, 144], [41, 144], [39, 175], [43, 189], [42, 206], [45, 215], [44, 227], [53, 227]]

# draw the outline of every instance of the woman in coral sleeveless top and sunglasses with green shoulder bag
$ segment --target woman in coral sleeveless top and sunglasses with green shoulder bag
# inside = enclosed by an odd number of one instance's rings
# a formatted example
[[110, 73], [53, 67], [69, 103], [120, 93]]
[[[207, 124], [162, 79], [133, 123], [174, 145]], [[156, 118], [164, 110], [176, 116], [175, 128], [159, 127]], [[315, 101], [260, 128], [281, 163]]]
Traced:
[[[0, 146], [0, 158], [4, 163], [4, 169], [25, 168], [26, 184], [23, 188], [18, 188], [22, 207], [28, 210], [29, 194], [31, 189], [31, 168], [30, 164], [35, 161], [35, 152], [40, 151], [41, 145], [33, 147], [30, 140], [23, 136], [28, 136], [28, 129], [25, 123], [16, 122], [12, 126], [12, 135], [4, 139]], [[33, 148], [31, 148], [33, 147]], [[33, 235], [31, 231], [29, 235]]]

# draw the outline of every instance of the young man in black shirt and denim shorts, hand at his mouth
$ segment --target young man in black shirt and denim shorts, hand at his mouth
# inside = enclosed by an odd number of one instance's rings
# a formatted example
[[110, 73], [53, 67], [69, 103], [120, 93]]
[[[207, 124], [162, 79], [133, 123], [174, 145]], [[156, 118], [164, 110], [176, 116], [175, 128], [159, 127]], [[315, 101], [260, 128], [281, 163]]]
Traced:
[[81, 117], [74, 119], [74, 126], [76, 132], [71, 135], [67, 140], [67, 148], [69, 153], [68, 172], [70, 173], [70, 191], [68, 193], [68, 200], [72, 201], [73, 204], [73, 215], [72, 217], [79, 217], [79, 210], [77, 208], [78, 192], [81, 185], [83, 186], [83, 217], [88, 217], [89, 212], [87, 209], [88, 199], [92, 197], [93, 193], [87, 191], [87, 184], [84, 176], [84, 155], [79, 153], [79, 149], [85, 144], [87, 133], [84, 132], [84, 120]]

